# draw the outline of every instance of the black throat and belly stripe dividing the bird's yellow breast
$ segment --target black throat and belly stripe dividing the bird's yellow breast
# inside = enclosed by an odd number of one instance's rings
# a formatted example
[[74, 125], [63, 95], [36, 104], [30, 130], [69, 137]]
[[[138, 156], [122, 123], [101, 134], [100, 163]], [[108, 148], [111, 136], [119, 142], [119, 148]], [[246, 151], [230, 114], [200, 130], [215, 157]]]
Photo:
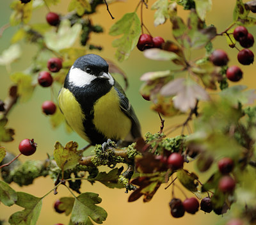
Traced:
[[81, 105], [81, 109], [86, 118], [86, 120], [83, 121], [84, 133], [90, 139], [90, 143], [95, 145], [106, 142], [108, 137], [99, 132], [93, 124], [93, 105], [100, 97], [106, 95], [106, 93], [110, 91], [112, 86], [109, 82], [95, 79], [90, 85], [85, 86], [84, 88], [75, 87], [68, 84], [68, 82], [65, 82], [64, 87], [73, 93], [77, 102]]

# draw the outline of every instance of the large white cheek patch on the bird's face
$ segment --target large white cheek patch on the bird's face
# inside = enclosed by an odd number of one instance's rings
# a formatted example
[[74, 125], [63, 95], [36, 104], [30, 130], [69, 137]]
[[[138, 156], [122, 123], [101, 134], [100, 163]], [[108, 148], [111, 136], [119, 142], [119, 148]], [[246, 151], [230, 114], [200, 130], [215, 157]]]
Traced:
[[83, 88], [96, 78], [95, 75], [87, 74], [83, 70], [72, 66], [69, 71], [68, 81], [76, 87]]

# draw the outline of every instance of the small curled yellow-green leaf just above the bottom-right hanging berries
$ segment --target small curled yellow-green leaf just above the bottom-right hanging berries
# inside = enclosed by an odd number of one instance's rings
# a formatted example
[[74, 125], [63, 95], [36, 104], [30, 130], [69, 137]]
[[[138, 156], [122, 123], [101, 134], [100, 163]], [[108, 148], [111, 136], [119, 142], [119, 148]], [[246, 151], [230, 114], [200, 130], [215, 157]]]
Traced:
[[189, 173], [185, 169], [178, 169], [177, 178], [179, 179], [180, 183], [186, 187], [186, 189], [193, 192], [197, 191], [198, 182], [196, 182], [196, 180], [198, 179], [198, 176], [196, 176], [195, 173]]

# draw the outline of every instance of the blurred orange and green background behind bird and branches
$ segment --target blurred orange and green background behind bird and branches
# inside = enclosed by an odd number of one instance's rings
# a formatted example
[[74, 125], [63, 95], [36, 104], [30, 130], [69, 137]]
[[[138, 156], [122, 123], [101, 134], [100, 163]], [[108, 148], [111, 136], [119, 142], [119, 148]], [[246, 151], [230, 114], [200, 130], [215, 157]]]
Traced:
[[[103, 34], [95, 34], [91, 36], [91, 43], [95, 45], [102, 45], [104, 48], [101, 52], [93, 51], [93, 53], [100, 54], [103, 58], [115, 61], [116, 65], [120, 66], [122, 70], [127, 74], [129, 78], [129, 88], [127, 89], [127, 96], [131, 100], [131, 103], [138, 115], [141, 122], [142, 132], [145, 134], [147, 131], [155, 133], [159, 130], [160, 121], [156, 113], [150, 111], [150, 102], [143, 100], [140, 96], [139, 89], [142, 84], [140, 77], [145, 72], [149, 71], [159, 71], [172, 69], [172, 63], [166, 63], [161, 61], [152, 61], [146, 59], [143, 53], [138, 49], [134, 49], [131, 53], [129, 59], [123, 63], [118, 63], [115, 60], [115, 49], [112, 47], [111, 42], [115, 39], [113, 36], [108, 35], [109, 27], [111, 27], [117, 20], [121, 19], [124, 13], [133, 12], [139, 1], [124, 1], [113, 3], [109, 5], [109, 10], [115, 17], [115, 20], [111, 20], [106, 6], [102, 4], [99, 6], [97, 13], [92, 15], [93, 24], [100, 24], [104, 26]], [[208, 25], [214, 24], [217, 27], [218, 33], [224, 31], [232, 22], [232, 10], [236, 1], [232, 0], [214, 0], [212, 1], [212, 10], [207, 14], [206, 23]], [[67, 13], [67, 6], [69, 1], [61, 1], [61, 4], [57, 6], [51, 6], [52, 12], [57, 13]], [[150, 10], [150, 7], [154, 1], [148, 1], [148, 9], [143, 10], [143, 22], [150, 30], [153, 36], [163, 36], [164, 40], [173, 40], [172, 36], [172, 26], [170, 21], [166, 21], [166, 24], [154, 27], [154, 11]], [[10, 1], [1, 1], [1, 13], [0, 13], [0, 25], [8, 23], [10, 17]], [[45, 22], [45, 15], [47, 13], [47, 8], [42, 8], [37, 10], [33, 14], [33, 22]], [[139, 13], [139, 11], [138, 11]], [[181, 7], [178, 8], [178, 14], [186, 20], [188, 12], [184, 12]], [[255, 27], [248, 27], [250, 33], [255, 34]], [[10, 27], [4, 31], [3, 36], [0, 39], [0, 52], [7, 49], [10, 45], [10, 37], [17, 31], [17, 27]], [[214, 39], [213, 45], [215, 49], [221, 48], [227, 51], [228, 57], [230, 58], [229, 65], [237, 64], [237, 50], [230, 49], [228, 47], [225, 37], [218, 36]], [[12, 64], [12, 72], [22, 71], [30, 63], [30, 59], [35, 54], [35, 46], [28, 46], [26, 43], [22, 42], [23, 47], [22, 58], [19, 61]], [[25, 47], [25, 48], [24, 48]], [[252, 48], [255, 52], [255, 47]], [[90, 51], [92, 52], [92, 51]], [[202, 54], [202, 50], [193, 51], [191, 58], [197, 58]], [[88, 51], [89, 53], [89, 51]], [[244, 78], [240, 84], [245, 84], [248, 88], [255, 88], [255, 65], [242, 66], [240, 65], [244, 72]], [[8, 72], [4, 66], [0, 66], [1, 72], [1, 82], [0, 82], [0, 99], [4, 100], [7, 95], [8, 87], [12, 84], [8, 77]], [[12, 112], [9, 114], [8, 127], [15, 128], [15, 141], [12, 143], [2, 143], [3, 146], [9, 151], [12, 151], [15, 155], [19, 153], [17, 146], [19, 142], [24, 138], [34, 138], [35, 142], [38, 143], [38, 148], [36, 153], [29, 157], [29, 159], [42, 160], [46, 158], [46, 153], [52, 154], [53, 146], [55, 141], [60, 141], [60, 143], [65, 144], [68, 141], [77, 141], [80, 147], [83, 147], [86, 143], [74, 132], [72, 134], [67, 134], [63, 125], [61, 127], [53, 130], [49, 123], [49, 118], [42, 114], [41, 104], [45, 100], [51, 98], [50, 89], [38, 87], [35, 90], [33, 98], [24, 104], [17, 104], [13, 107]], [[177, 116], [175, 118], [164, 118], [166, 119], [166, 127], [170, 127], [173, 124], [181, 123], [184, 121], [184, 116]], [[173, 132], [170, 137], [180, 134], [180, 130]], [[88, 150], [90, 153], [92, 149]], [[28, 159], [25, 156], [21, 156], [20, 160], [23, 162]], [[185, 165], [186, 168], [193, 169], [193, 165]], [[106, 169], [103, 167], [102, 169]], [[200, 174], [204, 181], [206, 176]], [[13, 189], [22, 192], [28, 192], [35, 196], [44, 196], [46, 192], [54, 187], [54, 183], [49, 177], [38, 178], [35, 180], [33, 185], [28, 187], [19, 187], [16, 184], [12, 184]], [[213, 212], [210, 214], [205, 214], [200, 211], [196, 215], [191, 215], [186, 213], [184, 217], [180, 219], [175, 219], [170, 215], [170, 208], [168, 203], [172, 198], [171, 192], [172, 188], [164, 190], [166, 185], [162, 185], [157, 191], [156, 195], [149, 203], [143, 203], [142, 199], [138, 199], [134, 203], [128, 203], [127, 199], [129, 194], [124, 193], [124, 189], [108, 189], [100, 183], [95, 183], [91, 185], [88, 182], [83, 182], [82, 192], [96, 192], [102, 198], [102, 206], [108, 212], [108, 218], [104, 222], [106, 225], [122, 224], [122, 225], [139, 225], [139, 224], [217, 224], [222, 220], [221, 216], [215, 215]], [[184, 199], [184, 196], [180, 193], [179, 189], [175, 189], [175, 196]], [[193, 193], [186, 192], [187, 196], [192, 197]], [[53, 203], [56, 199], [64, 196], [70, 196], [70, 192], [65, 187], [60, 186], [58, 189], [58, 194], [54, 196], [53, 193], [49, 194], [43, 200], [42, 212], [38, 219], [37, 224], [43, 225], [53, 225], [58, 222], [63, 224], [68, 224], [69, 217], [65, 215], [58, 214], [53, 210]], [[22, 210], [19, 206], [4, 206], [0, 205], [0, 219], [8, 220], [8, 217], [17, 210]], [[7, 224], [7, 223], [6, 223]]]

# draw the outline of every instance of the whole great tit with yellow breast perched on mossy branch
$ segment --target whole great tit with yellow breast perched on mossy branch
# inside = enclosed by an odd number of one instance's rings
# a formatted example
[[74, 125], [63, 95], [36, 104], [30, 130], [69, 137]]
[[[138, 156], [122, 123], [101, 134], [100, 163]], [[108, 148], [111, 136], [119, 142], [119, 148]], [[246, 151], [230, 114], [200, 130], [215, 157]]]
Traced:
[[140, 123], [108, 70], [108, 63], [100, 56], [78, 58], [60, 89], [59, 107], [68, 125], [88, 143], [103, 144], [111, 139], [131, 144], [141, 137]]

